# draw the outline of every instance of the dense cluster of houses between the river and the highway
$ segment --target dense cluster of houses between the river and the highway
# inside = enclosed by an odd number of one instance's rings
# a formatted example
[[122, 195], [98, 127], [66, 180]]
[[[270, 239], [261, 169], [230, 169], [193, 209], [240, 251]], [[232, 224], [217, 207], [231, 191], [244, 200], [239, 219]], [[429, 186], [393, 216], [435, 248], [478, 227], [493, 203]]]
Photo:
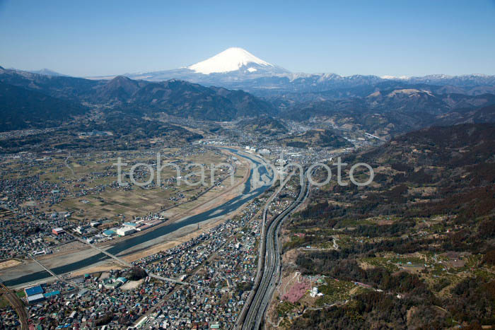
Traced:
[[[128, 270], [86, 274], [26, 289], [30, 324], [38, 329], [225, 329], [235, 322], [256, 273], [260, 223], [243, 213], [165, 252], [134, 262], [148, 273], [177, 278], [175, 285], [149, 276], [129, 281]], [[78, 283], [83, 288], [76, 288]]]

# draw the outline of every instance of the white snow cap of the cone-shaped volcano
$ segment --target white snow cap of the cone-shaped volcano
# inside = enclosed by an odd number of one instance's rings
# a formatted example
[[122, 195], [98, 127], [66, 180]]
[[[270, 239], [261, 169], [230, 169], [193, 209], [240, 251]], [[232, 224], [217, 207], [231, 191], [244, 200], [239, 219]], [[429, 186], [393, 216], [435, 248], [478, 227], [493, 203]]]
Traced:
[[[255, 55], [245, 49], [231, 47], [216, 54], [214, 57], [210, 57], [209, 59], [193, 64], [192, 66], [187, 66], [187, 69], [203, 74], [225, 73], [239, 70], [243, 66], [249, 66], [250, 64], [255, 64], [255, 66], [274, 67], [273, 64], [269, 64], [267, 61], [255, 57]], [[257, 71], [257, 68], [250, 67], [248, 68], [248, 71], [255, 72]]]

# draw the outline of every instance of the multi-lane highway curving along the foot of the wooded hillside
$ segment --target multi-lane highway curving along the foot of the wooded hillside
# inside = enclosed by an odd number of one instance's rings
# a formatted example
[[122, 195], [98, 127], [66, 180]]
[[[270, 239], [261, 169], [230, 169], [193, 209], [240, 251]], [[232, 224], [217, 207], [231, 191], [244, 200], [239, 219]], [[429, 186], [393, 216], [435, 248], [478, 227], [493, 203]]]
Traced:
[[[279, 283], [281, 273], [281, 257], [280, 257], [280, 244], [279, 244], [279, 230], [284, 220], [291, 215], [291, 213], [308, 197], [309, 194], [309, 182], [304, 176], [304, 181], [299, 191], [296, 201], [286, 208], [282, 213], [276, 216], [269, 224], [266, 231], [266, 236], [262, 237], [262, 244], [265, 245], [264, 265], [262, 267], [262, 279], [260, 285], [253, 289], [255, 291], [254, 298], [249, 305], [249, 310], [243, 320], [242, 328], [238, 326], [238, 329], [243, 330], [258, 330], [262, 324], [264, 312], [272, 300], [272, 295]], [[266, 213], [264, 214], [266, 217]], [[264, 218], [266, 220], [266, 218]]]

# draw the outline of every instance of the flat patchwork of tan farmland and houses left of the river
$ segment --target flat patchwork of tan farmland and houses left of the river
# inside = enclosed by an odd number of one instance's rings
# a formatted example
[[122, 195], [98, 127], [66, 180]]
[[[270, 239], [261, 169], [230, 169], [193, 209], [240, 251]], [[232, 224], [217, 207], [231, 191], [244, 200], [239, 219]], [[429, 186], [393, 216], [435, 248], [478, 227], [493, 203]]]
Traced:
[[[157, 174], [157, 154], [160, 155], [160, 179]], [[117, 162], [124, 186], [119, 184]], [[79, 223], [86, 219], [132, 218], [148, 213], [196, 201], [210, 187], [217, 183], [217, 177], [228, 175], [226, 168], [214, 168], [214, 180], [211, 180], [211, 164], [232, 162], [225, 153], [209, 148], [191, 147], [165, 148], [146, 151], [103, 151], [99, 153], [47, 153], [46, 155], [28, 155], [25, 158], [5, 158], [0, 160], [3, 166], [2, 178], [13, 182], [30, 178], [23, 189], [16, 184], [18, 191], [4, 199], [12, 200], [15, 195], [18, 205], [36, 209], [40, 212], [70, 212], [71, 220]], [[136, 166], [137, 164], [145, 166]], [[188, 167], [192, 163], [204, 168], [204, 185], [177, 184], [177, 177], [197, 182], [201, 176], [194, 175], [199, 167]], [[240, 164], [240, 163], [239, 163]], [[150, 168], [152, 172], [150, 172]], [[245, 168], [238, 168], [235, 180], [242, 179]], [[144, 187], [132, 184], [130, 176], [136, 182], [148, 182]], [[230, 180], [226, 180], [229, 181]], [[34, 187], [35, 182], [39, 187]], [[125, 186], [127, 184], [127, 186]], [[214, 187], [211, 193], [220, 193], [226, 187]], [[33, 189], [33, 191], [29, 191]], [[30, 194], [36, 199], [30, 198]], [[190, 207], [190, 206], [187, 206]]]

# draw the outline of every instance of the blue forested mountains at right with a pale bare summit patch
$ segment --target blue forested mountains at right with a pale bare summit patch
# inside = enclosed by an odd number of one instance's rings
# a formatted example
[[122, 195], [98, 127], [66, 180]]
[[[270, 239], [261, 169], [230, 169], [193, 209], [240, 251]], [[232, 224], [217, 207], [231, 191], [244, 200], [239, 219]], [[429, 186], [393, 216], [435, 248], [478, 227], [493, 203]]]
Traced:
[[[298, 122], [326, 122], [335, 129], [391, 136], [426, 126], [495, 122], [495, 95], [436, 94], [429, 90], [390, 89], [364, 98], [287, 102], [279, 117]], [[281, 107], [284, 105], [284, 107]]]

